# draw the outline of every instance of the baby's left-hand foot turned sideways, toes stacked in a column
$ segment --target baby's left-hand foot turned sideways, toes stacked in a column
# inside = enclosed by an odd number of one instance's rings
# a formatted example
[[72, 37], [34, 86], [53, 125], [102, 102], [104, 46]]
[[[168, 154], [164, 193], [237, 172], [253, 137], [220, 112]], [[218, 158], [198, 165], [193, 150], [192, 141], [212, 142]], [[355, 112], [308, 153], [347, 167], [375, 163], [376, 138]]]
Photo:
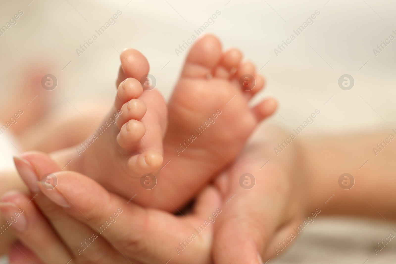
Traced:
[[145, 191], [139, 184], [142, 175], [162, 165], [167, 110], [160, 93], [144, 90], [139, 82], [148, 73], [145, 57], [129, 49], [123, 51], [121, 61], [138, 70], [131, 74], [134, 78], [118, 85], [114, 107], [92, 136], [77, 146], [68, 169], [130, 199], [139, 190]]

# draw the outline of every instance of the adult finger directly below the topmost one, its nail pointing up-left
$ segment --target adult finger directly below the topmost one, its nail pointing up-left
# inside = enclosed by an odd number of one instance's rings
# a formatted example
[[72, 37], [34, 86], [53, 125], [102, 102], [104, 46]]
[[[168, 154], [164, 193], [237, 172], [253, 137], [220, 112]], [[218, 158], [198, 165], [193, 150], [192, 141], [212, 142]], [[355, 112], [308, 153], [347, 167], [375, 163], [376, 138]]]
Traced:
[[56, 185], [56, 177], [51, 173], [59, 171], [60, 168], [55, 162], [50, 160], [46, 154], [40, 152], [27, 152], [22, 159], [14, 158], [14, 161], [21, 178], [33, 192], [34, 202], [51, 222], [55, 231], [62, 237], [74, 259], [95, 263], [113, 263], [114, 261], [123, 263], [126, 261], [95, 230], [71, 217], [62, 207], [53, 203], [38, 191], [37, 182], [41, 179], [44, 181], [42, 188], [52, 190], [53, 186], [48, 184]]

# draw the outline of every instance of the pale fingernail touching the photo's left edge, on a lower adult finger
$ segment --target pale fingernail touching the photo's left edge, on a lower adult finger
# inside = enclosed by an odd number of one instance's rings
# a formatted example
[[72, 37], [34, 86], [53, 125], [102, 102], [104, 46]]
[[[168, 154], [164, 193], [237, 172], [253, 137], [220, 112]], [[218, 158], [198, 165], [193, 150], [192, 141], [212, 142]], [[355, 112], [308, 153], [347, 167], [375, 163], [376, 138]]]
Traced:
[[[15, 203], [0, 202], [0, 211], [3, 214], [3, 217], [7, 220], [6, 224], [4, 224], [2, 228], [4, 228], [4, 226], [11, 226], [19, 232], [23, 232], [26, 229], [27, 220], [23, 215], [23, 209], [18, 209]], [[4, 232], [4, 230], [1, 230], [1, 232]]]

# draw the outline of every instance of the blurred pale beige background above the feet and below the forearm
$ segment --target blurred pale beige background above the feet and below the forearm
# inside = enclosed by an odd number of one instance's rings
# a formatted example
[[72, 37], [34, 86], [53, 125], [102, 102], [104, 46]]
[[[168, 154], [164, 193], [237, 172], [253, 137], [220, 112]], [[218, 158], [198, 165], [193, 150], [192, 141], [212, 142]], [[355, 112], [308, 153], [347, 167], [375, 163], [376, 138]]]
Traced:
[[[28, 61], [56, 65], [49, 72], [59, 81], [54, 106], [73, 110], [64, 97], [77, 109], [99, 100], [110, 104], [118, 53], [125, 47], [139, 49], [148, 58], [157, 88], [169, 97], [187, 55], [177, 57], [175, 48], [219, 10], [221, 15], [206, 32], [219, 36], [225, 47], [240, 47], [266, 76], [267, 89], [261, 94], [280, 101], [270, 122], [292, 129], [318, 108], [321, 114], [304, 133], [396, 127], [396, 40], [377, 57], [373, 53], [390, 34], [396, 36], [394, 1], [30, 1], [0, 4], [0, 26], [19, 9], [24, 12], [17, 25], [0, 36], [0, 106], [13, 98], [17, 71], [20, 65], [29, 66]], [[78, 57], [76, 48], [118, 9], [122, 15], [116, 24]], [[320, 15], [314, 24], [276, 57], [274, 48], [315, 10]], [[338, 87], [342, 74], [354, 77], [352, 90]], [[377, 256], [373, 251], [392, 227], [396, 224], [384, 220], [315, 220], [286, 255], [268, 263], [394, 263], [396, 241]]]

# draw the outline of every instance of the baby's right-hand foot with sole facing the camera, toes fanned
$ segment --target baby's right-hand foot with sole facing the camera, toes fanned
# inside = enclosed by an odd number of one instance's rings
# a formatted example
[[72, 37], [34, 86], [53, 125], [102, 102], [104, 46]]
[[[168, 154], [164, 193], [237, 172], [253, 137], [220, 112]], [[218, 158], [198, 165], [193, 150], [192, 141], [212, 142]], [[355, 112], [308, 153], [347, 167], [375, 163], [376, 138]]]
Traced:
[[[249, 106], [264, 79], [252, 63], [241, 61], [238, 49], [222, 51], [212, 35], [191, 48], [168, 104], [161, 179], [146, 205], [168, 211], [183, 206], [234, 160], [256, 125], [274, 112], [273, 99]], [[130, 76], [133, 69], [123, 66]], [[255, 79], [254, 86], [240, 85], [247, 76]]]

